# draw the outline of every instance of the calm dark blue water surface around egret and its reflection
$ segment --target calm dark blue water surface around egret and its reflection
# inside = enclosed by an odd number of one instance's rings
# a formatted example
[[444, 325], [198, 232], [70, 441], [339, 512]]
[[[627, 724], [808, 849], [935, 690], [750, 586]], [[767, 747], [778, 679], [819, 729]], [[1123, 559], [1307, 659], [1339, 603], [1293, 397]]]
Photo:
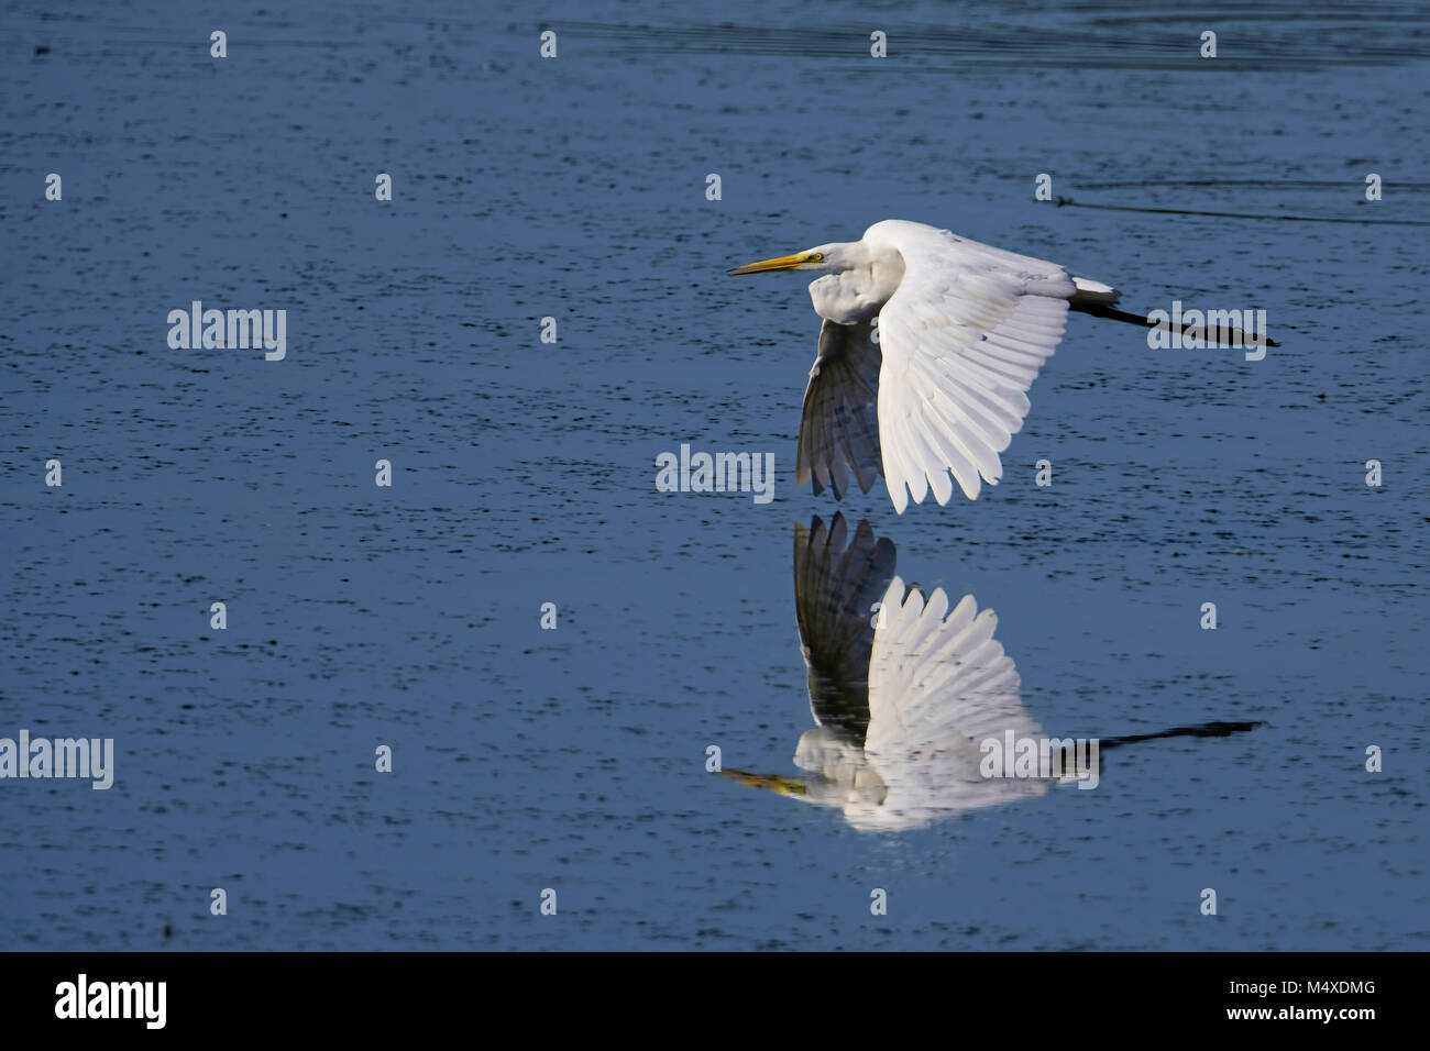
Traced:
[[[0, 948], [1427, 947], [1423, 9], [49, 7], [0, 9], [0, 736], [117, 756], [0, 782]], [[977, 503], [815, 498], [804, 282], [725, 267], [887, 217], [1283, 346], [1077, 316]], [[286, 360], [170, 350], [193, 299]], [[656, 492], [682, 442], [774, 502]], [[898, 831], [706, 772], [802, 775], [837, 510], [1038, 726], [1260, 725]]]

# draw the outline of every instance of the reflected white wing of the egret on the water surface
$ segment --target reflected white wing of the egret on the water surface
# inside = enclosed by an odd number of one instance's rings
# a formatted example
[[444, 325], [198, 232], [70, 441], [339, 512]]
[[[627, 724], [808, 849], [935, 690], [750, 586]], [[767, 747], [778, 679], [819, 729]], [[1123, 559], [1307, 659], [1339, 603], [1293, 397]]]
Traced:
[[885, 786], [877, 805], [851, 799], [845, 816], [867, 828], [909, 828], [954, 811], [1048, 791], [1037, 778], [984, 778], [987, 738], [1041, 738], [1018, 696], [1018, 669], [992, 638], [998, 618], [965, 595], [950, 612], [935, 591], [894, 578], [869, 659], [864, 755]]

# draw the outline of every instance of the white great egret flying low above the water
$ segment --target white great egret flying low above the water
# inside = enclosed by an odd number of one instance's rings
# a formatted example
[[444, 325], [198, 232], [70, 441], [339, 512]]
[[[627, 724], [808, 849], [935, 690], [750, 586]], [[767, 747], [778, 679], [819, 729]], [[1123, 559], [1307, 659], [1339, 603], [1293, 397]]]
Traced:
[[[731, 273], [776, 270], [824, 275], [809, 285], [825, 320], [799, 420], [797, 485], [842, 498], [851, 476], [868, 492], [882, 473], [899, 513], [909, 493], [915, 503], [928, 492], [947, 503], [950, 472], [971, 500], [980, 479], [998, 483], [998, 453], [1022, 428], [1028, 388], [1070, 309], [1171, 327], [1113, 309], [1117, 289], [1057, 263], [902, 219]], [[1244, 340], [1236, 329], [1226, 335]]]

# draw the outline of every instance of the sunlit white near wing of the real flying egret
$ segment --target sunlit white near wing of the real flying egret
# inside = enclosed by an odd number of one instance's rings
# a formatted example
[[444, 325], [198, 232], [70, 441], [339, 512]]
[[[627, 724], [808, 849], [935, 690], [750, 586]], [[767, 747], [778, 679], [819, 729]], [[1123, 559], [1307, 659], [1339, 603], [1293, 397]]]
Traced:
[[977, 499], [980, 476], [1002, 476], [998, 453], [1022, 428], [1027, 390], [1062, 339], [1077, 286], [1055, 263], [922, 223], [892, 219], [864, 237], [904, 257], [878, 320], [879, 446], [894, 508], [930, 489], [947, 503], [950, 472]]

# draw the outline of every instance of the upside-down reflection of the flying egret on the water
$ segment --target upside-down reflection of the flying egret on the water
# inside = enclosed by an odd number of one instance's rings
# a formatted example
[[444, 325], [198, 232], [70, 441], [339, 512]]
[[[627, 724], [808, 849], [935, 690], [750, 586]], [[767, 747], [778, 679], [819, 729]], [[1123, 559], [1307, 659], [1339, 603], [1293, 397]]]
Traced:
[[[848, 542], [848, 546], [847, 546]], [[972, 595], [950, 608], [894, 573], [891, 541], [868, 522], [854, 538], [842, 515], [825, 529], [795, 526], [795, 613], [815, 726], [794, 762], [812, 776], [726, 769], [742, 784], [837, 806], [861, 829], [917, 828], [932, 819], [1047, 792], [1047, 778], [985, 778], [980, 744], [1040, 738], [1022, 706], [1018, 672], [994, 639], [998, 618]], [[1221, 736], [1254, 724], [1183, 726], [1157, 736]]]

